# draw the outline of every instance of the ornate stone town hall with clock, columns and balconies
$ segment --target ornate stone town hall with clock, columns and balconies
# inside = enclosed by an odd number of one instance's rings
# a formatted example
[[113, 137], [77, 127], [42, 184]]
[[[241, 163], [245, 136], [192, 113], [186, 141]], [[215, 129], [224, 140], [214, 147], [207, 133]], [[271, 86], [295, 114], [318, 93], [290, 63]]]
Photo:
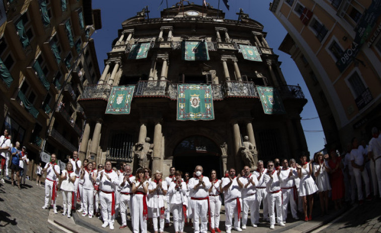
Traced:
[[[160, 18], [143, 10], [121, 26], [98, 84], [79, 100], [87, 116], [81, 158], [125, 161], [136, 170], [140, 150], [151, 149], [153, 171], [168, 175], [171, 166], [192, 172], [202, 165], [204, 174], [221, 175], [247, 164], [240, 153], [245, 136], [255, 160], [308, 153], [299, 116], [307, 100], [299, 86], [287, 85], [263, 26], [243, 11], [230, 20], [221, 10], [189, 4], [164, 9]], [[205, 108], [213, 117], [179, 120], [189, 102], [180, 101], [187, 84], [212, 90]], [[265, 102], [261, 88], [271, 92]], [[197, 98], [191, 97], [195, 107]], [[125, 108], [110, 109], [120, 103]], [[265, 114], [263, 103], [279, 109]], [[136, 146], [146, 137], [153, 145]]]

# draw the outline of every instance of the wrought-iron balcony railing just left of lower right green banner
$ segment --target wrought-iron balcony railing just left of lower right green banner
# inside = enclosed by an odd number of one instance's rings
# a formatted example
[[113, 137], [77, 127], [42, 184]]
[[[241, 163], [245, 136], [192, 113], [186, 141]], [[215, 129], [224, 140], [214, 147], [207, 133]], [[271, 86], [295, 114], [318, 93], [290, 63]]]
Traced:
[[258, 97], [253, 82], [226, 81], [224, 89], [226, 97]]

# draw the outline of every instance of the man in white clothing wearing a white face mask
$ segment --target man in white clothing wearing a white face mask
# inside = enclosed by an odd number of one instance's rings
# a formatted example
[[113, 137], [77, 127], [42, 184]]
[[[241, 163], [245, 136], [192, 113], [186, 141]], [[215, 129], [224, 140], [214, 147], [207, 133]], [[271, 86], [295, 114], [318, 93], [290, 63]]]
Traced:
[[[208, 190], [211, 183], [209, 178], [202, 175], [203, 169], [201, 166], [196, 166], [194, 172], [195, 176], [188, 182], [188, 188], [192, 190], [192, 193], [190, 194], [191, 203], [189, 206], [192, 208], [194, 233], [206, 233], [208, 230], [208, 218], [206, 213], [210, 212]], [[201, 219], [201, 227], [199, 219]]]

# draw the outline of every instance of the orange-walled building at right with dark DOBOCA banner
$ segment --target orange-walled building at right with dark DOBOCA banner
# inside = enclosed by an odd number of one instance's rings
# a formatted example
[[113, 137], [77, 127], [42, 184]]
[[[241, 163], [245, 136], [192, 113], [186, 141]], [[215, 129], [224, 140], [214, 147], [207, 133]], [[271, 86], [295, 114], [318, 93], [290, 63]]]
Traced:
[[270, 11], [288, 32], [279, 49], [309, 88], [326, 147], [369, 139], [381, 128], [380, 1], [274, 0]]

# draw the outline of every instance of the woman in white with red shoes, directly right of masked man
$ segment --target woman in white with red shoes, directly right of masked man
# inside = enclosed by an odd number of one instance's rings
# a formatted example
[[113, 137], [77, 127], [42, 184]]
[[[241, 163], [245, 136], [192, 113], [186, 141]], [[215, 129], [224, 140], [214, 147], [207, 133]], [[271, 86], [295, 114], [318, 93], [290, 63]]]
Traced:
[[221, 211], [222, 181], [217, 179], [215, 170], [210, 172], [209, 206], [210, 206], [210, 228], [211, 233], [221, 232], [219, 229], [219, 212]]

